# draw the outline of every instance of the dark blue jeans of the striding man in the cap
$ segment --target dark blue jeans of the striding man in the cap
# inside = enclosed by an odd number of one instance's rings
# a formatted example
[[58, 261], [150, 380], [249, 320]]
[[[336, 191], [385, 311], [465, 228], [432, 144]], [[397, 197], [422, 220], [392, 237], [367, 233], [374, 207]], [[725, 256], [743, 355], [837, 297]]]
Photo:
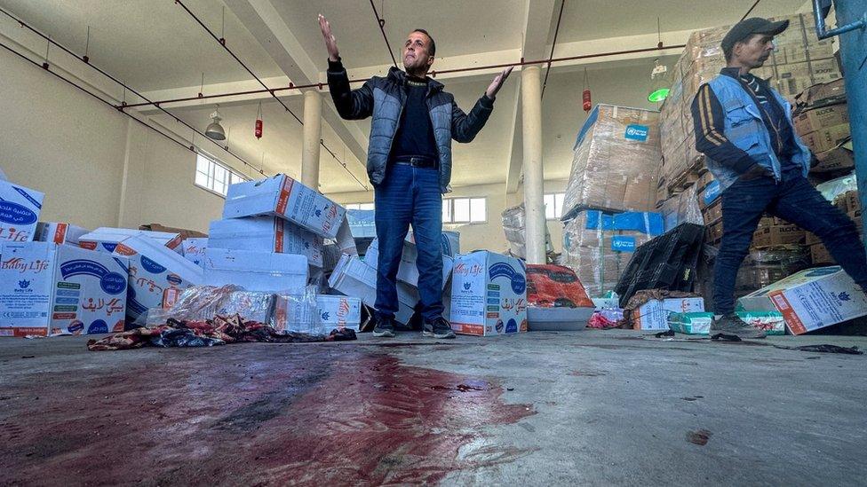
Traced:
[[764, 212], [815, 233], [844, 271], [867, 292], [867, 253], [855, 224], [800, 174], [737, 180], [722, 192], [722, 244], [713, 269], [713, 307], [735, 310], [735, 279]]

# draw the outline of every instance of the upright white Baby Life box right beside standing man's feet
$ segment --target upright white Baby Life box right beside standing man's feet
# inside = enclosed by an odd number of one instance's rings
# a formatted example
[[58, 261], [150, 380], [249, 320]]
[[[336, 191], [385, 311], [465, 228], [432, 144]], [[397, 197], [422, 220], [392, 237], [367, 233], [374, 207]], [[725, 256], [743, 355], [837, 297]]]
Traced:
[[455, 257], [451, 277], [451, 327], [483, 336], [527, 331], [524, 263], [479, 250]]

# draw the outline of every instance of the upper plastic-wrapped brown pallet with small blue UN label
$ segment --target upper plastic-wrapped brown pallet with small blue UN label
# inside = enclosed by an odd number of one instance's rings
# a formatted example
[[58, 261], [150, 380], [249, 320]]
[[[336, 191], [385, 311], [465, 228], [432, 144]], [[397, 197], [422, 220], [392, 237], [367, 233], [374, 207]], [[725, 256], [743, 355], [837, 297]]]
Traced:
[[656, 201], [659, 113], [597, 105], [578, 133], [563, 219], [585, 208], [647, 211]]

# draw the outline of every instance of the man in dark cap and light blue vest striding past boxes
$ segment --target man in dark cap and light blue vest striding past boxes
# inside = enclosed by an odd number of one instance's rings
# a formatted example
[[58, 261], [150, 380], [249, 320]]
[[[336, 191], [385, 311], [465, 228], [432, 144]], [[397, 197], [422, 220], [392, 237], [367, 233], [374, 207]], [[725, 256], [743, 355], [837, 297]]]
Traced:
[[752, 234], [768, 212], [813, 232], [867, 292], [867, 255], [855, 224], [807, 182], [812, 159], [791, 124], [791, 106], [768, 82], [750, 74], [774, 51], [774, 36], [788, 20], [752, 18], [723, 38], [727, 67], [698, 90], [692, 103], [696, 149], [722, 191], [722, 243], [713, 279], [718, 318], [711, 335], [763, 338], [736, 317], [735, 279]]

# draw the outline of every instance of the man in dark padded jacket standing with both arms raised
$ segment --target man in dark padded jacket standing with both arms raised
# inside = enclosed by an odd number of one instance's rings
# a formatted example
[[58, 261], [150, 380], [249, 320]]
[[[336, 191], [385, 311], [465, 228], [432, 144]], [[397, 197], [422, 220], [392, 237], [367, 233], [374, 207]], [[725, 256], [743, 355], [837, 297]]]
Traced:
[[455, 338], [449, 321], [442, 317], [442, 193], [449, 191], [451, 140], [470, 142], [479, 133], [512, 67], [497, 75], [465, 114], [451, 93], [427, 75], [436, 44], [426, 30], [416, 29], [407, 36], [405, 72], [391, 67], [387, 76], [374, 76], [358, 90], [350, 90], [337, 42], [322, 15], [319, 27], [328, 50], [328, 86], [338, 114], [347, 120], [373, 117], [367, 156], [379, 244], [373, 335], [394, 336], [397, 271], [411, 224], [418, 249], [423, 334]]

